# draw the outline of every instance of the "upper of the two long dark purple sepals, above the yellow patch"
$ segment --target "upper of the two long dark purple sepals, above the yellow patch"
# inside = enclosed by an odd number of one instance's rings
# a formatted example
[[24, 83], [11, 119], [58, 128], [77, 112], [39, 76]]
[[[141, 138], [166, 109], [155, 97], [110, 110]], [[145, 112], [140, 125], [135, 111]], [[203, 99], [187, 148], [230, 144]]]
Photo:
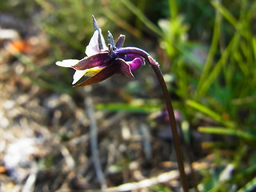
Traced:
[[105, 66], [110, 62], [111, 58], [108, 52], [103, 52], [100, 54], [94, 54], [87, 58], [82, 58], [78, 64], [72, 66], [75, 70], [87, 70], [95, 66]]

